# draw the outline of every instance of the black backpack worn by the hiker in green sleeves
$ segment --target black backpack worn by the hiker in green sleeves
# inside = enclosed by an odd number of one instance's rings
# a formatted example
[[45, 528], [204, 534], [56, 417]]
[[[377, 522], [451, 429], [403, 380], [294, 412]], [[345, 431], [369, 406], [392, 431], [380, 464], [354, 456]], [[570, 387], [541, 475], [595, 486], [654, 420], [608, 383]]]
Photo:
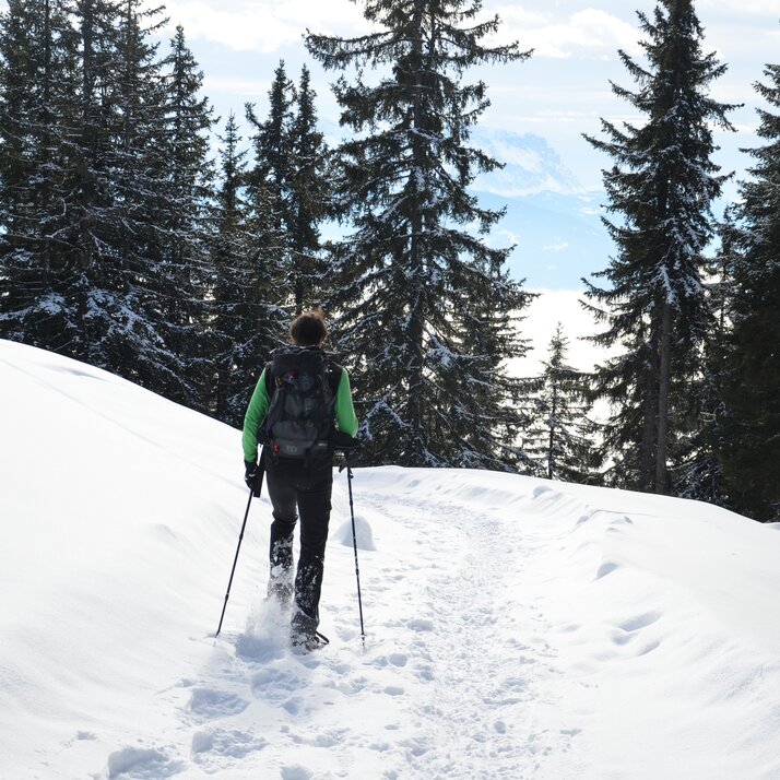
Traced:
[[286, 346], [265, 366], [271, 399], [262, 438], [276, 458], [310, 461], [331, 452], [341, 366], [319, 348]]

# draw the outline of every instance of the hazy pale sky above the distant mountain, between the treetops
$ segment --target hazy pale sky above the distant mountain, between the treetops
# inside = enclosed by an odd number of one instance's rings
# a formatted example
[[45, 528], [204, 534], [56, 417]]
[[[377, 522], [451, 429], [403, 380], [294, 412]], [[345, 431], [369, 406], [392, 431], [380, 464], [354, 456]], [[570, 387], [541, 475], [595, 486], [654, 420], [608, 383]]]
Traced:
[[[630, 118], [616, 99], [610, 79], [631, 82], [617, 59], [617, 49], [637, 52], [636, 11], [651, 13], [647, 0], [532, 0], [516, 4], [486, 3], [485, 13], [504, 20], [500, 40], [517, 39], [533, 48], [524, 63], [478, 71], [491, 86], [493, 106], [482, 125], [517, 133], [535, 133], [560, 155], [584, 189], [599, 188], [601, 155], [582, 140], [598, 132], [599, 117]], [[713, 87], [716, 97], [745, 103], [735, 111], [737, 133], [719, 137], [720, 162], [742, 174], [748, 159], [740, 146], [756, 143], [755, 107], [760, 105], [752, 83], [766, 62], [780, 61], [780, 0], [699, 0], [706, 50], [716, 50], [729, 71]], [[302, 34], [352, 35], [367, 29], [361, 3], [350, 0], [172, 0], [170, 23], [181, 23], [206, 74], [205, 91], [220, 111], [243, 113], [246, 101], [263, 111], [273, 68], [284, 58], [291, 75], [308, 61]], [[310, 63], [324, 120], [338, 121], [338, 107], [328, 83], [332, 74]]]

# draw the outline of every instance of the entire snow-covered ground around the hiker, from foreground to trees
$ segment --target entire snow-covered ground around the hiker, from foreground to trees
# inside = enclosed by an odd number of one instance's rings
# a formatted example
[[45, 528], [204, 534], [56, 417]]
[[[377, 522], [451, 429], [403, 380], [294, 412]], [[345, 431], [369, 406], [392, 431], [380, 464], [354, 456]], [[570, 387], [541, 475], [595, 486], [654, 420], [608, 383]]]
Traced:
[[329, 648], [263, 604], [239, 434], [0, 342], [0, 778], [780, 778], [780, 532], [462, 471], [344, 475]]

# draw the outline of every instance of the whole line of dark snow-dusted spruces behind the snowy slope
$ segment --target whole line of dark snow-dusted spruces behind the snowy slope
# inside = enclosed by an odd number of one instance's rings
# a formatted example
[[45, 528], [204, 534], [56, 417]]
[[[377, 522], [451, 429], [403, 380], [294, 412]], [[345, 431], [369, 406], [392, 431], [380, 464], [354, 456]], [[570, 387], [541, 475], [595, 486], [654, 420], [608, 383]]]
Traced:
[[[508, 361], [529, 343], [532, 295], [501, 211], [470, 191], [500, 162], [471, 143], [489, 105], [478, 2], [365, 0], [373, 32], [308, 34], [345, 140], [329, 149], [310, 74], [281, 62], [268, 113], [217, 120], [181, 27], [141, 0], [10, 0], [0, 15], [0, 336], [86, 361], [240, 425], [291, 314], [328, 308], [371, 463], [519, 471], [702, 498], [768, 520], [780, 409], [780, 67], [756, 88], [756, 161], [740, 202], [709, 94], [725, 66], [702, 50], [690, 0], [639, 14], [645, 57], [613, 85], [641, 123], [603, 121], [615, 255], [584, 305], [615, 355], [567, 365], [558, 330], [543, 374]], [[218, 126], [217, 126], [218, 123]], [[218, 139], [214, 144], [213, 137]], [[323, 241], [326, 222], [343, 237]], [[717, 246], [712, 252], [711, 247]], [[604, 263], [594, 258], [594, 263]], [[591, 419], [596, 401], [607, 418]]]

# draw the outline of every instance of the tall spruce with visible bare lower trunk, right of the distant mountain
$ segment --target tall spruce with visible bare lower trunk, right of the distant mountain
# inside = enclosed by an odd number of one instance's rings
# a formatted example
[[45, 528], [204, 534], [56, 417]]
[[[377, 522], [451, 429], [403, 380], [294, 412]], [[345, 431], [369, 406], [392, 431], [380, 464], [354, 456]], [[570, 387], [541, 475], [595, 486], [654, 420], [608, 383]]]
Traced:
[[612, 407], [605, 446], [613, 484], [669, 493], [670, 464], [694, 419], [688, 388], [712, 322], [701, 273], [710, 204], [725, 178], [711, 159], [712, 126], [730, 128], [733, 106], [708, 94], [725, 66], [702, 54], [692, 0], [662, 0], [652, 19], [638, 16], [647, 66], [621, 51], [638, 88], [613, 91], [645, 121], [602, 120], [605, 139], [586, 137], [614, 161], [604, 186], [618, 217], [605, 220], [616, 257], [596, 274], [608, 284], [586, 284], [589, 308], [606, 324], [593, 341], [623, 350], [594, 377], [594, 395]]

